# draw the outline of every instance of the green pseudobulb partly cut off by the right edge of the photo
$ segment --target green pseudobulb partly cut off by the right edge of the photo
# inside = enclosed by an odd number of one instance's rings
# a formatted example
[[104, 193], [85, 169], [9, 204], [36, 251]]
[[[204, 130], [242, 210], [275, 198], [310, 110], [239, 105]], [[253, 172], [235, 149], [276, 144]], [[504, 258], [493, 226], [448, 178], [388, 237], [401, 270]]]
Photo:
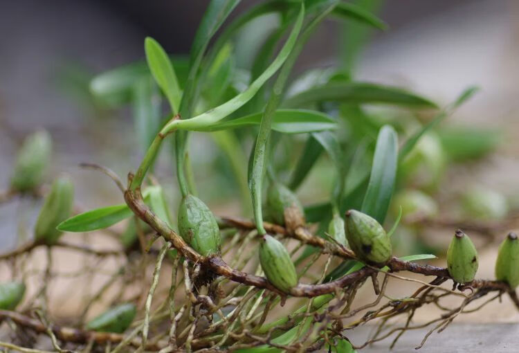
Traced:
[[519, 284], [519, 240], [516, 233], [509, 233], [499, 246], [495, 278], [507, 282], [512, 289]]

